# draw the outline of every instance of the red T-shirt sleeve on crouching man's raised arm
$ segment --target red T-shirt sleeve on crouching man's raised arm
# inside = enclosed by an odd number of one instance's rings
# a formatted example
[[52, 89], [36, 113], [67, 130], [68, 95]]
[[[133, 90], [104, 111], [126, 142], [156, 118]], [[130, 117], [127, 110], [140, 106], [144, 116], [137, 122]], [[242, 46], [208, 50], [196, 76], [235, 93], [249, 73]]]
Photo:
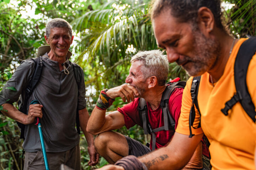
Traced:
[[117, 109], [118, 112], [124, 115], [124, 123], [127, 129], [130, 129], [134, 125], [138, 124], [142, 126], [138, 112], [139, 98], [135, 98], [133, 102], [124, 105], [122, 108]]

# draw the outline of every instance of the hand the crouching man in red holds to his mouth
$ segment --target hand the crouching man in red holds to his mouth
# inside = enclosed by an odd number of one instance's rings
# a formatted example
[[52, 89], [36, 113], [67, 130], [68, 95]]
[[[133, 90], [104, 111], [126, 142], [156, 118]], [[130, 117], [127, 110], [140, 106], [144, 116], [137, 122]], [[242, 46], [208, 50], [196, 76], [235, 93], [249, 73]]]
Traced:
[[139, 92], [128, 84], [123, 84], [118, 87], [114, 87], [109, 89], [106, 94], [111, 98], [121, 97], [123, 102], [127, 100], [127, 102], [134, 101], [134, 96], [139, 96]]

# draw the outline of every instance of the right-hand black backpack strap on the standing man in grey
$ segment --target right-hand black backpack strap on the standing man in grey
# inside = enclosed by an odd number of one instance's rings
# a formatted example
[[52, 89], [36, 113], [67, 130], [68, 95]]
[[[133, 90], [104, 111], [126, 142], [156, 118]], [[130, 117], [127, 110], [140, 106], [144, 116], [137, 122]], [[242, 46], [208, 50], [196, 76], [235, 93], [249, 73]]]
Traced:
[[[78, 85], [78, 89], [80, 89], [80, 83], [82, 81], [82, 72], [81, 72], [81, 67], [76, 64], [71, 62], [73, 65], [73, 69], [74, 69], [74, 75], [75, 75], [75, 79], [76, 79], [76, 84]], [[79, 93], [79, 90], [78, 90]], [[79, 94], [78, 94], [79, 95]], [[78, 132], [78, 134], [81, 134], [80, 132], [80, 121], [79, 121], [79, 110], [78, 110], [78, 106], [76, 107], [76, 130]]]

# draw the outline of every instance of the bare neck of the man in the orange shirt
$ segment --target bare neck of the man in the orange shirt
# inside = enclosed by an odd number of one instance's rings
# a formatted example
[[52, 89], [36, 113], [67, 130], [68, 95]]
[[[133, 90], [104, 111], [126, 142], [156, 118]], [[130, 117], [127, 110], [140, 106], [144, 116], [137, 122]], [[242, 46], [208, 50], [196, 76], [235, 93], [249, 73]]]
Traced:
[[226, 63], [228, 62], [230, 56], [230, 49], [233, 48], [235, 43], [237, 42], [237, 40], [235, 40], [233, 44], [234, 39], [226, 33], [224, 33], [224, 35], [218, 35], [217, 38], [221, 47], [220, 56], [219, 58], [217, 58], [215, 66], [208, 71], [208, 73], [212, 77], [212, 83], [217, 82], [220, 77], [222, 77]]

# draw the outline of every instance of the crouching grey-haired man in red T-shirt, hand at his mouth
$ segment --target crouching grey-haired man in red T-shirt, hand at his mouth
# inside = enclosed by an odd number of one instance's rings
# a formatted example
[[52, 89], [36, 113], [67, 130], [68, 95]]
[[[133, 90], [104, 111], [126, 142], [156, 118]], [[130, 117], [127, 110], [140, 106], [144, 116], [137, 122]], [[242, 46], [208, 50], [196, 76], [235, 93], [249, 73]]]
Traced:
[[[151, 128], [156, 129], [164, 125], [160, 101], [167, 87], [165, 82], [169, 64], [166, 56], [160, 50], [143, 51], [133, 56], [131, 63], [129, 75], [126, 78], [127, 84], [102, 90], [87, 124], [88, 132], [94, 135], [99, 134], [94, 142], [97, 152], [111, 164], [127, 155], [139, 157], [151, 152], [152, 134], [150, 148], [148, 148], [130, 137], [111, 131], [124, 125], [128, 129], [135, 124], [143, 126], [138, 113], [139, 97], [144, 98], [147, 103]], [[176, 88], [169, 98], [169, 111], [172, 119], [175, 120], [175, 129], [180, 117], [182, 92], [183, 88]], [[106, 115], [106, 109], [111, 106], [116, 97], [121, 97], [124, 102], [130, 102], [130, 100], [132, 102]], [[174, 135], [174, 130], [163, 130], [155, 134], [157, 149], [167, 145]], [[202, 143], [200, 142], [185, 168], [202, 169], [201, 156]]]

